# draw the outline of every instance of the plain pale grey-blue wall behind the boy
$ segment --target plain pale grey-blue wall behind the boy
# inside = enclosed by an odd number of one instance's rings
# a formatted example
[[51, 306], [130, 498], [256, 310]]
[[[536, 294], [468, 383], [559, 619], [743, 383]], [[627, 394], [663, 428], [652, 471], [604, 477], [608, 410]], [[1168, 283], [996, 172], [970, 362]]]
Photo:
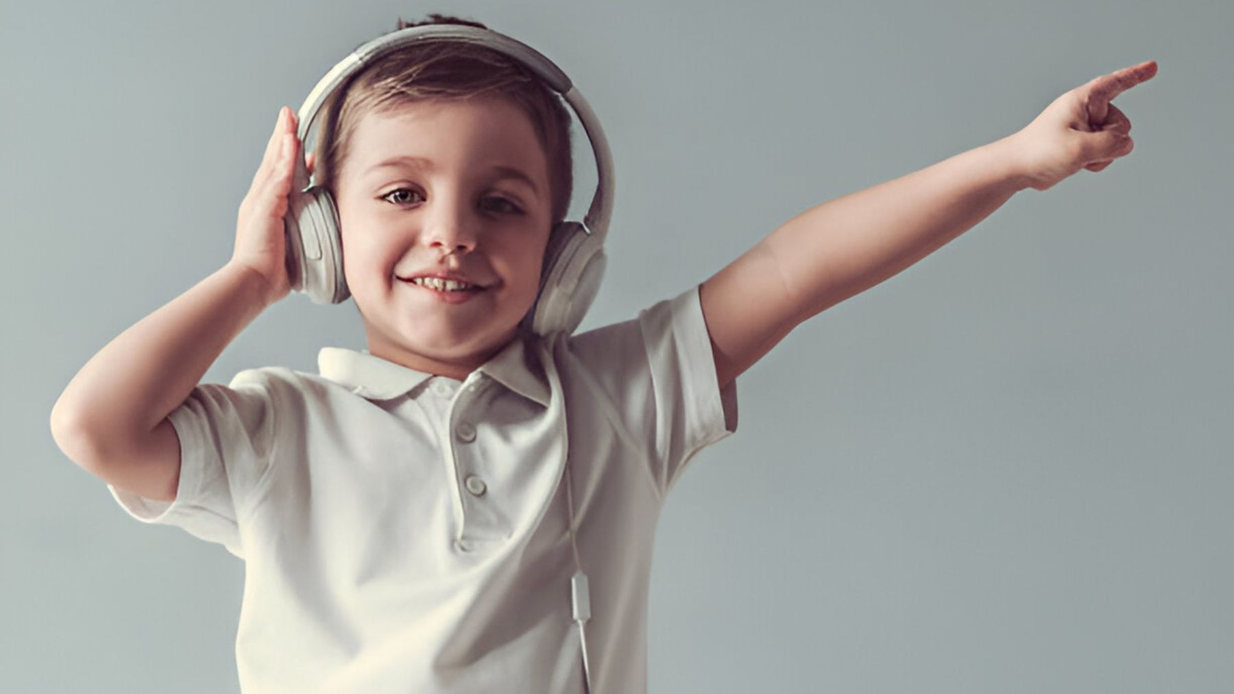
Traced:
[[[536, 46], [605, 125], [617, 205], [581, 329], [1157, 60], [1114, 101], [1130, 157], [1018, 194], [739, 378], [738, 434], [660, 524], [650, 689], [1234, 690], [1234, 10], [1058, 0], [5, 0], [0, 689], [236, 689], [243, 565], [125, 515], [48, 413], [227, 261], [278, 108], [429, 11]], [[364, 346], [354, 304], [292, 295], [206, 380], [315, 371], [322, 345]]]

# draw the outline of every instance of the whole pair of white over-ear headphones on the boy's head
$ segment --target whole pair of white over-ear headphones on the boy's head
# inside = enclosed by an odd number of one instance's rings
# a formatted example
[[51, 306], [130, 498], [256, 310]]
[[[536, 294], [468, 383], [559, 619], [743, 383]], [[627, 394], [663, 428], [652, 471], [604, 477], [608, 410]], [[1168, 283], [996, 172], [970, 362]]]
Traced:
[[[515, 58], [560, 94], [582, 121], [596, 157], [598, 182], [584, 222], [560, 222], [549, 234], [536, 303], [524, 325], [537, 335], [554, 332], [570, 334], [587, 313], [607, 259], [603, 251], [613, 200], [612, 154], [600, 121], [552, 60], [534, 48], [492, 30], [463, 25], [426, 25], [404, 28], [375, 38], [331, 68], [308, 92], [299, 112], [300, 142], [304, 143], [329, 95], [378, 57], [420, 41], [460, 41], [476, 43]], [[318, 133], [320, 136], [320, 133]], [[338, 210], [325, 187], [310, 182], [302, 158], [296, 160], [288, 213], [286, 266], [291, 288], [307, 293], [317, 303], [339, 303], [350, 296], [343, 277], [343, 244]]]

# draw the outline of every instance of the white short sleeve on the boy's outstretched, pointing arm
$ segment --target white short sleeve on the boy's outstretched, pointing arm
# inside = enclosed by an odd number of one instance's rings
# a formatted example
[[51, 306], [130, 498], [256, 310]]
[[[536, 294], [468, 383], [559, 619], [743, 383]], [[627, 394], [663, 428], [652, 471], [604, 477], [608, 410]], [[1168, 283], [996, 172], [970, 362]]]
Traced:
[[571, 338], [570, 350], [648, 459], [661, 494], [695, 454], [737, 430], [737, 381], [719, 390], [697, 286], [634, 320]]

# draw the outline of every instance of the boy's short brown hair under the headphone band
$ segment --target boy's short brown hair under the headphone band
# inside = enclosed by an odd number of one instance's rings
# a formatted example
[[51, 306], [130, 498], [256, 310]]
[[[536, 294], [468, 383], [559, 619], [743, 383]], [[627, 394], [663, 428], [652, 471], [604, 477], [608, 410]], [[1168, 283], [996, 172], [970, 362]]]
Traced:
[[[480, 22], [431, 14], [427, 20], [399, 18], [395, 31], [423, 25]], [[458, 41], [424, 41], [386, 53], [354, 75], [323, 105], [315, 154], [315, 180], [332, 194], [360, 117], [390, 112], [417, 101], [458, 101], [479, 95], [510, 100], [531, 118], [548, 161], [552, 222], [565, 219], [574, 189], [570, 115], [560, 95], [518, 60], [491, 48]], [[341, 102], [339, 102], [341, 100]]]

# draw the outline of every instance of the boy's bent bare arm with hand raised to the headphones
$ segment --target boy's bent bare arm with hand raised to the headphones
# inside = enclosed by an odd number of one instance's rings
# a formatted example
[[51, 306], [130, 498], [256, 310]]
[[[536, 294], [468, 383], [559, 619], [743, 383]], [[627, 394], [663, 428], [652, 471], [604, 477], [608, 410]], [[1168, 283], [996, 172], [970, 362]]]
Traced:
[[283, 214], [299, 152], [295, 127], [290, 110], [280, 110], [241, 202], [231, 261], [111, 340], [56, 401], [57, 445], [109, 483], [147, 498], [175, 498], [180, 445], [168, 414], [223, 348], [290, 292]]

